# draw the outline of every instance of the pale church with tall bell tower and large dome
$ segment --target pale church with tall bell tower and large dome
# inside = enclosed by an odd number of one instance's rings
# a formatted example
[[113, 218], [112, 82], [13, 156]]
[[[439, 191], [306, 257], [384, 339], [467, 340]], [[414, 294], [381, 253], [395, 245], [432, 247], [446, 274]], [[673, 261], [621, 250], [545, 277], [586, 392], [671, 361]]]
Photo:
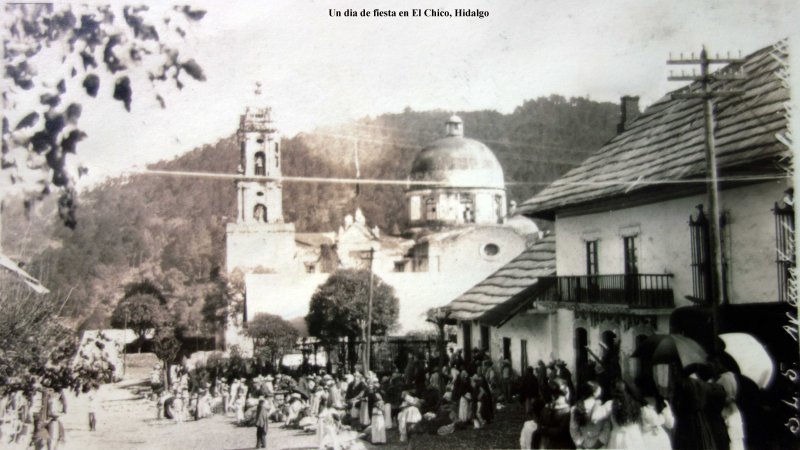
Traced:
[[[281, 149], [270, 108], [248, 108], [238, 130], [241, 152], [238, 212], [226, 233], [227, 271], [245, 280], [243, 317], [227, 345], [250, 347], [242, 326], [258, 313], [305, 316], [316, 288], [340, 268], [368, 268], [395, 288], [399, 325], [393, 334], [432, 329], [426, 312], [446, 304], [516, 257], [536, 230], [506, 224], [503, 171], [492, 151], [463, 135], [456, 116], [445, 137], [411, 164], [406, 192], [410, 229], [404, 237], [370, 227], [360, 210], [337, 232], [297, 233], [282, 214]], [[410, 236], [410, 237], [409, 237]]]

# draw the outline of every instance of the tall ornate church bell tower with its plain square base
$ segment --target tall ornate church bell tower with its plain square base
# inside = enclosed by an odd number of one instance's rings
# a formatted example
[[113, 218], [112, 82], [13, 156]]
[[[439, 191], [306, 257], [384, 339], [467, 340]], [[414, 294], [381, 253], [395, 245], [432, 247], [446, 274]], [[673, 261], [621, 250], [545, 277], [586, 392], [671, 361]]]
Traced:
[[296, 270], [294, 224], [284, 223], [281, 139], [261, 87], [239, 118], [236, 220], [226, 229], [228, 272]]

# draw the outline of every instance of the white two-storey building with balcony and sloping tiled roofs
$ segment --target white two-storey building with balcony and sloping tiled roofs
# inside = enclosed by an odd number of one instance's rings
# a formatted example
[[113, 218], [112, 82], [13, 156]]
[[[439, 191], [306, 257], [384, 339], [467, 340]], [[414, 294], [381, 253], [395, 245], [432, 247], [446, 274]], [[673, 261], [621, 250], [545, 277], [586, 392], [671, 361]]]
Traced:
[[[780, 44], [767, 47], [716, 72], [741, 79], [712, 82], [713, 90], [743, 92], [715, 100], [729, 326], [741, 311], [788, 306], [794, 212], [785, 168], [789, 90], [779, 76], [786, 57]], [[648, 335], [709, 336], [703, 102], [674, 95], [699, 88], [681, 88], [641, 113], [636, 98], [623, 98], [619, 134], [520, 205], [527, 217], [554, 221], [551, 260], [514, 260], [451, 302], [460, 345], [484, 347], [516, 371], [562, 359], [580, 382], [590, 360], [608, 357], [623, 374], [638, 375], [630, 355]], [[775, 315], [751, 317], [767, 316]], [[765, 326], [750, 325], [754, 334]], [[770, 339], [781, 362], [786, 354]]]

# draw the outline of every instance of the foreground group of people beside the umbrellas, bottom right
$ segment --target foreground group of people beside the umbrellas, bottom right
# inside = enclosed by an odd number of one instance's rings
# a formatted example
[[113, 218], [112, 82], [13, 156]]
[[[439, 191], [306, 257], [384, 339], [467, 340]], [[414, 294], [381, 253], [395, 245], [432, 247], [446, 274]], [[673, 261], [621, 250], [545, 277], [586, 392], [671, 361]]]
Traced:
[[589, 379], [577, 395], [557, 366], [523, 377], [523, 449], [745, 448], [737, 377], [719, 364], [657, 365], [635, 382]]

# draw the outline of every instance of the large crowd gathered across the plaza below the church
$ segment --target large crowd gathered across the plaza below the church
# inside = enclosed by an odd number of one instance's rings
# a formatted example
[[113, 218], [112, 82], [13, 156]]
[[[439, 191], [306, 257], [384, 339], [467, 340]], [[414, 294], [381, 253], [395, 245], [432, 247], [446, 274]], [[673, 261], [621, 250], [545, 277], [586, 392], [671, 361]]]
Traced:
[[156, 416], [180, 423], [224, 414], [255, 426], [258, 445], [268, 424], [278, 423], [316, 433], [320, 448], [340, 448], [343, 436], [352, 435], [386, 443], [393, 429], [407, 442], [420, 432], [483, 428], [492, 423], [497, 401], [510, 401], [518, 390], [510, 362], [492, 361], [478, 349], [466, 358], [452, 349], [443, 355], [409, 353], [403, 362], [380, 377], [357, 368], [193, 379], [180, 370], [156, 396]]

